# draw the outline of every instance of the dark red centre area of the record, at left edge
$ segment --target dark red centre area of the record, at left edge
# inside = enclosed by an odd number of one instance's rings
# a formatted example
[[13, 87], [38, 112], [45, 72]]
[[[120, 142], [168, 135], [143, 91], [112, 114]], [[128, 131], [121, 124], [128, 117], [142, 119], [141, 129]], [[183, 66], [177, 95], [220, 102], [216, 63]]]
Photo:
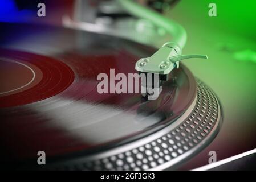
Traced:
[[[6, 88], [5, 92], [0, 92], [0, 107], [25, 105], [49, 98], [68, 88], [74, 81], [72, 69], [50, 57], [8, 49], [0, 49], [0, 54], [1, 90], [8, 87], [11, 81], [20, 82], [26, 77], [25, 71], [17, 71], [19, 64], [30, 69], [31, 77], [34, 77], [25, 86], [21, 84], [11, 91]], [[11, 69], [14, 70], [13, 75]], [[14, 78], [10, 78], [11, 76]], [[15, 84], [19, 84], [17, 82]]]

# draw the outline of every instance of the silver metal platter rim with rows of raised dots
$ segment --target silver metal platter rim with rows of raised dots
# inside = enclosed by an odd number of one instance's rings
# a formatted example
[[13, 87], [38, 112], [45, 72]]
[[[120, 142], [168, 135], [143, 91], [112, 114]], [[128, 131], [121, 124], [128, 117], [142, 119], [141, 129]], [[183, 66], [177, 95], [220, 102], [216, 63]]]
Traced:
[[175, 169], [175, 164], [207, 146], [220, 126], [214, 93], [197, 81], [197, 97], [176, 121], [143, 139], [97, 154], [47, 164], [47, 169], [148, 170]]

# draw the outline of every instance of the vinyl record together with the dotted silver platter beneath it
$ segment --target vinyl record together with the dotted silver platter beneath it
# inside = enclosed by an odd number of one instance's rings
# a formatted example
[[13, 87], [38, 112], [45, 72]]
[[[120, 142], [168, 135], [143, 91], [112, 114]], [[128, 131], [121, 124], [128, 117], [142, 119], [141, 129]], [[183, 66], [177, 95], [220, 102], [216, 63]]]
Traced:
[[165, 168], [217, 131], [218, 101], [184, 65], [157, 100], [97, 92], [97, 75], [136, 73], [136, 61], [151, 56], [151, 47], [65, 28], [2, 27], [0, 146], [12, 168], [30, 168], [38, 151], [49, 169]]

